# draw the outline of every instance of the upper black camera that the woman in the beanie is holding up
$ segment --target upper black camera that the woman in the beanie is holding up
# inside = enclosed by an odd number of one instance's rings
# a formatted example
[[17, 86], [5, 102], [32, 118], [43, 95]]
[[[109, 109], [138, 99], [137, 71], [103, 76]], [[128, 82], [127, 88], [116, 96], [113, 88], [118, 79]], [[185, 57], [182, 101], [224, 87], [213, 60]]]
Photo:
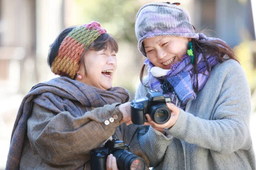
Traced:
[[147, 122], [145, 114], [148, 113], [157, 124], [166, 123], [171, 117], [171, 111], [166, 106], [166, 102], [171, 102], [171, 98], [158, 91], [150, 91], [146, 97], [133, 100], [131, 102], [131, 121], [136, 125], [143, 125], [144, 122]]

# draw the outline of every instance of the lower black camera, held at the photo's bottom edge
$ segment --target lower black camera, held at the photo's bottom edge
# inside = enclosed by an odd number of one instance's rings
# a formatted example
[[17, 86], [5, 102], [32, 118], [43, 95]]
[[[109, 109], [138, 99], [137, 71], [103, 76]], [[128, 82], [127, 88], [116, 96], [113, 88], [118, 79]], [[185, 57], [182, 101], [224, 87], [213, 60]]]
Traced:
[[127, 144], [120, 140], [108, 140], [104, 147], [98, 147], [90, 152], [91, 170], [106, 170], [106, 161], [111, 153], [116, 157], [119, 170], [145, 170], [145, 161], [128, 151]]

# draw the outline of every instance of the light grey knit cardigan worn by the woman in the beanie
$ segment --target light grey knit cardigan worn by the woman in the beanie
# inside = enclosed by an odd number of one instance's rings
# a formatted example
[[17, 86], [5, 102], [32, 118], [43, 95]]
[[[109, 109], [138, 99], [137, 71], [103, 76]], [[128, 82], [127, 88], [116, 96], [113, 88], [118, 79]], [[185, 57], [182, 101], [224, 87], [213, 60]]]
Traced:
[[[148, 90], [140, 84], [135, 98]], [[156, 170], [255, 170], [250, 110], [250, 88], [241, 65], [232, 59], [218, 63], [196, 99], [166, 130], [173, 138], [142, 127], [140, 147]]]

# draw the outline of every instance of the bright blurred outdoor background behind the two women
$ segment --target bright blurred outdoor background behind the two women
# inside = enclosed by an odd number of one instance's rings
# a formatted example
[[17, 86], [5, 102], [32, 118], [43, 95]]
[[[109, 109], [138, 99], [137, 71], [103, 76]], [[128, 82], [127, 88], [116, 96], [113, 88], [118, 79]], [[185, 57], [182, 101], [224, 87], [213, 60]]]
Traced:
[[[143, 57], [134, 23], [146, 3], [163, 0], [0, 0], [0, 169], [4, 169], [20, 102], [33, 85], [56, 77], [47, 65], [49, 45], [64, 28], [101, 23], [119, 44], [113, 86], [139, 83]], [[176, 1], [174, 1], [176, 2]], [[174, 3], [171, 1], [171, 3]], [[256, 148], [256, 1], [179, 0], [197, 32], [219, 37], [239, 57], [252, 95], [251, 136]], [[212, 31], [210, 31], [212, 30]]]

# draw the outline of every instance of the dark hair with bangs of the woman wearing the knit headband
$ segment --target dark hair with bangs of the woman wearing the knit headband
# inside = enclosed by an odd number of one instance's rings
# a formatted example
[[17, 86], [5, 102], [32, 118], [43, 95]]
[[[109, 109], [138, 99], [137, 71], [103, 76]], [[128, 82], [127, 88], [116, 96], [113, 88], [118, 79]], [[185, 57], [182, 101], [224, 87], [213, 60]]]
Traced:
[[[69, 34], [76, 26], [69, 27], [64, 29], [61, 34], [58, 35], [56, 40], [50, 45], [49, 53], [48, 53], [48, 65], [52, 67], [52, 62], [58, 55], [58, 50], [60, 48], [61, 42], [64, 40], [64, 38]], [[86, 54], [88, 51], [94, 50], [94, 51], [101, 51], [102, 49], [109, 49], [112, 51], [118, 52], [118, 45], [116, 40], [111, 37], [109, 34], [101, 34], [96, 40], [94, 40], [89, 47], [84, 51], [83, 54], [81, 54], [81, 61], [84, 61], [84, 54]], [[83, 62], [84, 63], [84, 62]], [[85, 68], [85, 64], [84, 64]], [[86, 70], [85, 70], [86, 73]], [[76, 77], [75, 77], [76, 78]]]

